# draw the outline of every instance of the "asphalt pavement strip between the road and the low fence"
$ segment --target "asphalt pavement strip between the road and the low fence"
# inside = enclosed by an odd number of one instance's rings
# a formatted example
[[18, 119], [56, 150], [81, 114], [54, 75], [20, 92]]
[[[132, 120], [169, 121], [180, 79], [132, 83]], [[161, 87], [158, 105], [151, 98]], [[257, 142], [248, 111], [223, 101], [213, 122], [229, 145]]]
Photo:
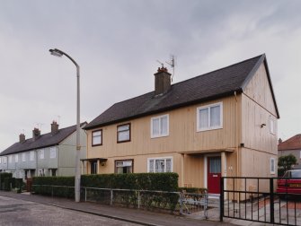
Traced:
[[0, 196], [8, 196], [16, 199], [22, 199], [39, 204], [49, 204], [58, 208], [88, 213], [107, 217], [123, 222], [132, 222], [140, 225], [173, 225], [173, 226], [195, 226], [195, 225], [234, 225], [228, 222], [212, 222], [208, 220], [193, 219], [185, 216], [173, 215], [170, 213], [155, 213], [132, 208], [96, 204], [91, 202], [75, 203], [74, 200], [49, 197], [40, 195], [31, 195], [30, 193], [17, 194], [14, 192], [0, 191]]

